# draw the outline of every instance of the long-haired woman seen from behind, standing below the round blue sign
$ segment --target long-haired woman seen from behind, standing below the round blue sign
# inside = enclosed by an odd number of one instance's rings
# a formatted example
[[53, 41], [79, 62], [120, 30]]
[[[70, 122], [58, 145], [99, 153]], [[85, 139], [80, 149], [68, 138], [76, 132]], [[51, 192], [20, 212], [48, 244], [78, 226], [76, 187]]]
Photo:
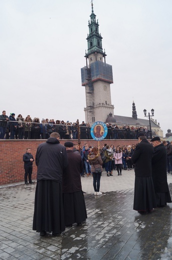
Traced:
[[91, 165], [91, 172], [93, 173], [93, 187], [94, 187], [94, 195], [101, 195], [102, 192], [100, 192], [100, 178], [101, 178], [101, 172], [96, 173], [96, 168], [102, 169], [103, 161], [101, 159], [100, 154], [98, 153], [97, 147], [93, 147], [92, 152], [88, 154], [88, 160]]

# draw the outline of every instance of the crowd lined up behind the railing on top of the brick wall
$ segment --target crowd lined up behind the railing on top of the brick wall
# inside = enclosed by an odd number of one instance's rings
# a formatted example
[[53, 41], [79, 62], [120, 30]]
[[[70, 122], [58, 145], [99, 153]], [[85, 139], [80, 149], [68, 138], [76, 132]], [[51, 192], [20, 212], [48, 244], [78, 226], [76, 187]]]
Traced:
[[[134, 127], [106, 123], [108, 133], [106, 139], [137, 139], [139, 131], [145, 131], [147, 138], [150, 137], [150, 130], [147, 127]], [[79, 126], [79, 127], [78, 127]], [[33, 119], [30, 115], [25, 118], [18, 114], [11, 113], [9, 117], [5, 110], [0, 115], [0, 139], [47, 139], [52, 132], [58, 132], [61, 139], [92, 139], [90, 134], [91, 125], [82, 121], [70, 122], [67, 120], [54, 120], [38, 117]], [[78, 134], [79, 131], [79, 134]]]

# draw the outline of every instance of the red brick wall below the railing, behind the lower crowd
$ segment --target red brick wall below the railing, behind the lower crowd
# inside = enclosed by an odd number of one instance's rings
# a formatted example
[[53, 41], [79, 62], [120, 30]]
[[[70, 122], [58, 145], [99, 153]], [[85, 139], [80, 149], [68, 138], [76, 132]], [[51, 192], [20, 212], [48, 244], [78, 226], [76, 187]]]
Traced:
[[[64, 144], [66, 140], [60, 140], [61, 144]], [[77, 140], [72, 140], [77, 143]], [[24, 162], [22, 160], [23, 154], [26, 152], [26, 148], [31, 148], [31, 153], [35, 159], [36, 149], [39, 143], [43, 140], [0, 140], [0, 185], [24, 182]], [[97, 146], [98, 141], [95, 140], [82, 140], [81, 147], [84, 143], [88, 145]], [[109, 145], [130, 145], [136, 144], [138, 140], [103, 140], [100, 141], [102, 147], [104, 143]], [[32, 179], [36, 179], [37, 167], [33, 162]]]

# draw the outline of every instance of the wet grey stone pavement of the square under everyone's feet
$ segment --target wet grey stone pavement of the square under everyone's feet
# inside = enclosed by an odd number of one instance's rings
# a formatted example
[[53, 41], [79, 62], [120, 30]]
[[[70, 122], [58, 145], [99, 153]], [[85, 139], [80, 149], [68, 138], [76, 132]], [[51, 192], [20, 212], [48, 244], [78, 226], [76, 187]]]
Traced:
[[[172, 203], [152, 213], [133, 210], [134, 170], [101, 177], [95, 196], [92, 176], [82, 177], [88, 218], [59, 236], [32, 230], [36, 184], [0, 186], [0, 259], [172, 259]], [[172, 174], [168, 174], [172, 195]]]

